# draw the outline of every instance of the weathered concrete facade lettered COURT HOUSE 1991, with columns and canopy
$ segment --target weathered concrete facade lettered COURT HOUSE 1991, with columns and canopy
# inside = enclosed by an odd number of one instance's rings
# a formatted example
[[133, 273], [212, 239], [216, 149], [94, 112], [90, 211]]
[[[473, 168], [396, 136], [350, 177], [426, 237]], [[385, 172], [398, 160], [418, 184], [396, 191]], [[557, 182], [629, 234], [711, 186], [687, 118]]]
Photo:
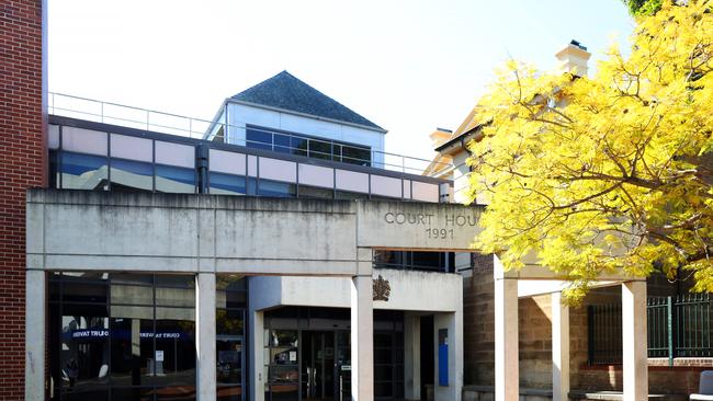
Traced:
[[[374, 308], [434, 313], [434, 337], [444, 330], [449, 344], [449, 381], [434, 389], [435, 399], [460, 400], [461, 276], [376, 272], [373, 249], [465, 251], [479, 211], [444, 204], [33, 190], [27, 193], [27, 277], [65, 270], [196, 274], [200, 400], [216, 394], [218, 273], [262, 276], [250, 280], [249, 291], [253, 367], [264, 363], [260, 346], [264, 309], [286, 305], [350, 308], [354, 400], [372, 400], [374, 394]], [[372, 299], [377, 276], [393, 283], [388, 300]], [[32, 291], [45, 290], [44, 279], [33, 283]], [[45, 307], [42, 297], [27, 303], [36, 316], [44, 316]], [[42, 330], [35, 334], [29, 336], [27, 345], [41, 352], [45, 334]], [[251, 399], [262, 400], [264, 393], [257, 389], [265, 378], [261, 369], [252, 371], [256, 391]], [[42, 369], [27, 371], [27, 394], [41, 391], [43, 376]], [[416, 394], [412, 386], [411, 394]]]

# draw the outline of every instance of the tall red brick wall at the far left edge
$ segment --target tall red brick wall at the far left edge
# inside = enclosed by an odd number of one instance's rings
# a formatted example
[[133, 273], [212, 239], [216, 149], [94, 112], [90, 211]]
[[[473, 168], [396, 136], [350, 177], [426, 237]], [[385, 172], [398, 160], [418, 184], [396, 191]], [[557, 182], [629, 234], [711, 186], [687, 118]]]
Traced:
[[45, 185], [42, 0], [0, 1], [0, 400], [24, 399], [25, 190]]

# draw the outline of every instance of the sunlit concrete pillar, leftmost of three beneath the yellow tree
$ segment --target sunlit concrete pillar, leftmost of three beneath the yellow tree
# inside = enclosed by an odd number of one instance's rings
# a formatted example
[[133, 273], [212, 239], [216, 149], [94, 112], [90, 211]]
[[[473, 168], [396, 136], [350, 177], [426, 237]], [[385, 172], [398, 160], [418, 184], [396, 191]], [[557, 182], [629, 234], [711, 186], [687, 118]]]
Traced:
[[505, 278], [502, 264], [494, 256], [495, 278], [495, 400], [518, 401], [518, 280]]

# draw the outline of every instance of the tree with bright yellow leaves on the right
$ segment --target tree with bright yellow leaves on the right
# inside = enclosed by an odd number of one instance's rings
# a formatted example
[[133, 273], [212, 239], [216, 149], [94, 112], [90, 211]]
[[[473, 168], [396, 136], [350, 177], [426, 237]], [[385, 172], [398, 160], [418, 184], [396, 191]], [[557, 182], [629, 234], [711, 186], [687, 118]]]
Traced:
[[666, 2], [596, 76], [509, 62], [479, 102], [476, 245], [534, 254], [578, 300], [603, 272], [693, 276], [713, 290], [713, 2]]

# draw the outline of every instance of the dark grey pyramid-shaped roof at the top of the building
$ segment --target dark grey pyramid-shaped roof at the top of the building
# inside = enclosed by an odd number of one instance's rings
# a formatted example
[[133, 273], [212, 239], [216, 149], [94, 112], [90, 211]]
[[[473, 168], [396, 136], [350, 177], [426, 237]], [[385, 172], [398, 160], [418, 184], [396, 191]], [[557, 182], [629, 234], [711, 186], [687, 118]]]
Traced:
[[230, 99], [384, 130], [287, 71], [282, 71]]

